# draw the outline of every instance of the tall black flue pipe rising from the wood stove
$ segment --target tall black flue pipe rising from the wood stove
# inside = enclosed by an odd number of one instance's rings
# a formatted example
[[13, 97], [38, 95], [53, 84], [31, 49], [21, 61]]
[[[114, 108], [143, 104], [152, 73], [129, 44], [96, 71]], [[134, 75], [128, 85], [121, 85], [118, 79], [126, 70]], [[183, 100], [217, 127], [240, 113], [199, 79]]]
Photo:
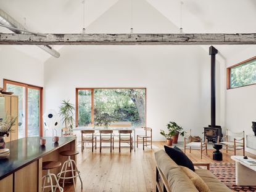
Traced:
[[216, 127], [216, 94], [215, 94], [215, 57], [218, 50], [215, 47], [209, 47], [211, 55], [211, 127]]

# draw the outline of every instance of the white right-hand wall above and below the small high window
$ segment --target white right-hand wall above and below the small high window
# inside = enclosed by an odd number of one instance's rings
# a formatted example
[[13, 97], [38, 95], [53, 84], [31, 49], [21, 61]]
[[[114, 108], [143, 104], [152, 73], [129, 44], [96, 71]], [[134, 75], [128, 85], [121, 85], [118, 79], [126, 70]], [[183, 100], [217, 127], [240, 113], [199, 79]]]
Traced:
[[[227, 59], [228, 66], [254, 57], [255, 46], [233, 54]], [[245, 131], [253, 135], [252, 121], [256, 121], [256, 85], [226, 90], [226, 126], [234, 132]], [[256, 154], [256, 151], [246, 149]]]

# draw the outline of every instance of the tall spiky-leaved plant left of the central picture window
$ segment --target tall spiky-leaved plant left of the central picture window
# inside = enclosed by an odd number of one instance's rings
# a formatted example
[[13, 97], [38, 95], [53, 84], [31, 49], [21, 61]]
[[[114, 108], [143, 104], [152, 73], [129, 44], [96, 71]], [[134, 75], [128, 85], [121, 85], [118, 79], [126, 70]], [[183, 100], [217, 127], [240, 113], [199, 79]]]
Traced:
[[65, 131], [64, 135], [70, 135], [72, 133], [75, 122], [73, 111], [75, 111], [75, 106], [69, 100], [63, 100], [60, 105], [59, 115], [62, 117], [63, 124], [65, 124], [65, 127], [62, 129]]

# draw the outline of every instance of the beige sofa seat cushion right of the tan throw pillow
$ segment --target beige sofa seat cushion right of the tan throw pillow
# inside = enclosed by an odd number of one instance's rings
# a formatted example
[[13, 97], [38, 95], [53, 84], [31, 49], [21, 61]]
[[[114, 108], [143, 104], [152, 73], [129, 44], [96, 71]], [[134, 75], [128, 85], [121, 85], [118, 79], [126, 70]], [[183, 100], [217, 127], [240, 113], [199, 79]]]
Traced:
[[221, 183], [220, 180], [218, 180], [217, 177], [215, 177], [212, 172], [206, 169], [196, 169], [196, 174], [199, 175], [202, 180], [206, 183], [207, 186], [209, 186], [210, 191], [213, 192], [223, 192], [223, 191], [231, 191], [228, 186], [226, 186], [224, 183]]

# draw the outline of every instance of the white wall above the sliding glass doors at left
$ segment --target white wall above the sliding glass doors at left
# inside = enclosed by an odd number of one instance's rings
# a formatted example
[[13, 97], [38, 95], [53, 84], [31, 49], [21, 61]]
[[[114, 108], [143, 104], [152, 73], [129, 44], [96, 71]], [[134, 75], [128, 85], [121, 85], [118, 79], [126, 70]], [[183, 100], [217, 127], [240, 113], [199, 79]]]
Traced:
[[3, 86], [3, 79], [43, 87], [43, 62], [20, 52], [14, 46], [0, 46], [0, 58], [0, 87]]

